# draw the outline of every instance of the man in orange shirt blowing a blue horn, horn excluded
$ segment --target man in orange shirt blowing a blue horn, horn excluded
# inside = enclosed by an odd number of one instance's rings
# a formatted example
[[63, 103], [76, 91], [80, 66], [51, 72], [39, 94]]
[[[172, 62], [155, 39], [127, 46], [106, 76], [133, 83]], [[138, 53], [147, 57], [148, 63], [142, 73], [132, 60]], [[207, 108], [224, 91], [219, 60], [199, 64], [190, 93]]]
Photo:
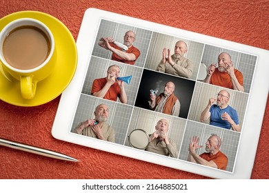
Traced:
[[101, 79], [95, 79], [92, 83], [91, 94], [111, 101], [119, 100], [121, 103], [127, 103], [127, 95], [123, 81], [119, 81], [120, 68], [118, 65], [110, 65], [107, 76]]

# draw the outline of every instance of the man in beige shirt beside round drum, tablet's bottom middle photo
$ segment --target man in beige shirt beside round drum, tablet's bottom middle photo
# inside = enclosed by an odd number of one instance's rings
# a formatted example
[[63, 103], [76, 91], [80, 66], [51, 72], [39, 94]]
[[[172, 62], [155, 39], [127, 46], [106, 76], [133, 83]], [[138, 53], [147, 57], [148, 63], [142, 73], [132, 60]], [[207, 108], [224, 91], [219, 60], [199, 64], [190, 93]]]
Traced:
[[177, 145], [175, 141], [168, 138], [168, 121], [166, 119], [160, 119], [155, 129], [156, 131], [150, 134], [150, 143], [146, 151], [177, 158]]

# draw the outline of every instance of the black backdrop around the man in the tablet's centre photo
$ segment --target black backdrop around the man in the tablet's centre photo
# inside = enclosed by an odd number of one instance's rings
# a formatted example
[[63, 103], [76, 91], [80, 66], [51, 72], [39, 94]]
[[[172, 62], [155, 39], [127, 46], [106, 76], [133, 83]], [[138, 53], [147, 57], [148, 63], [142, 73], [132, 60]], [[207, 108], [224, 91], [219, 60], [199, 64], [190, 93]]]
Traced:
[[175, 83], [174, 94], [180, 102], [179, 117], [187, 119], [193, 90], [195, 88], [195, 81], [174, 77], [169, 74], [144, 69], [135, 106], [149, 110], [148, 101], [150, 101], [150, 90], [158, 89], [158, 96], [161, 92], [163, 92], [164, 85], [166, 85], [169, 81]]

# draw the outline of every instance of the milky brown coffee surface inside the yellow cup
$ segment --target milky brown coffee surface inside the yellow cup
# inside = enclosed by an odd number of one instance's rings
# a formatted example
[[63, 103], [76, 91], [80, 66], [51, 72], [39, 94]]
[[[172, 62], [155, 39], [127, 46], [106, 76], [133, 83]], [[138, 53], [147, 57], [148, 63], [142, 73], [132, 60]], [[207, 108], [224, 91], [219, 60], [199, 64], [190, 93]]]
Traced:
[[12, 30], [3, 41], [3, 57], [20, 70], [41, 65], [50, 54], [48, 36], [37, 27], [22, 26]]

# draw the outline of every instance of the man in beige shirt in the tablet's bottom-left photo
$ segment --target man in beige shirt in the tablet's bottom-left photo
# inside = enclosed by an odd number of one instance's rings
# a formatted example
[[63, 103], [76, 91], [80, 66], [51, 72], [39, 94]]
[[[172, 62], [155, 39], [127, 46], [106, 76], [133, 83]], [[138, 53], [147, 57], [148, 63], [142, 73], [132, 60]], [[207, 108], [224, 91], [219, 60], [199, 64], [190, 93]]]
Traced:
[[104, 141], [115, 142], [114, 129], [106, 123], [108, 120], [109, 109], [105, 104], [98, 105], [94, 111], [94, 119], [81, 122], [74, 132], [85, 136], [90, 136]]

